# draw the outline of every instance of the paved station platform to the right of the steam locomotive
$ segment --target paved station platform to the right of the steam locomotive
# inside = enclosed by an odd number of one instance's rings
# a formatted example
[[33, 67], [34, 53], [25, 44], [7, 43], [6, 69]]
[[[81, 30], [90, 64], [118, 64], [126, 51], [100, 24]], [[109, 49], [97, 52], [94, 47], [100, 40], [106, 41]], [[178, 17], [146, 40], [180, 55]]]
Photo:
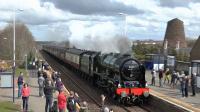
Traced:
[[200, 89], [197, 88], [196, 96], [191, 96], [191, 89], [189, 87], [188, 97], [182, 97], [180, 91], [180, 84], [177, 83], [175, 88], [170, 87], [170, 84], [165, 83], [163, 87], [159, 87], [159, 78], [156, 77], [155, 86], [151, 86], [151, 71], [146, 71], [146, 80], [148, 87], [151, 88], [150, 93], [154, 96], [161, 97], [180, 107], [187, 108], [193, 112], [200, 112]]

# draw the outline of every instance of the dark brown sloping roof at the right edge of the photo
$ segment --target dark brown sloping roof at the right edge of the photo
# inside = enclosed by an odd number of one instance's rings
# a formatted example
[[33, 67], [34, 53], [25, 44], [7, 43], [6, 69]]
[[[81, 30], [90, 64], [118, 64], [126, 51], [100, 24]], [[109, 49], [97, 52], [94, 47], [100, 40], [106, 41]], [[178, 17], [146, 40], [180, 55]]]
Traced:
[[190, 60], [200, 60], [200, 36], [190, 51]]

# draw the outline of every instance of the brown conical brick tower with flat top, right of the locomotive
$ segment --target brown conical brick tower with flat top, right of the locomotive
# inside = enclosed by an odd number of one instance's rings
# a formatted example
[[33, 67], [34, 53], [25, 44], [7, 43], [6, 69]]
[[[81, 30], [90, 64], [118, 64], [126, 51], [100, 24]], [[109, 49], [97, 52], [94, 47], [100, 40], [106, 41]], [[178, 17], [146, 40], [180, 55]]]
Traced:
[[187, 47], [183, 21], [178, 18], [168, 21], [163, 43], [164, 48], [166, 47], [165, 43], [167, 43], [167, 48], [170, 49]]

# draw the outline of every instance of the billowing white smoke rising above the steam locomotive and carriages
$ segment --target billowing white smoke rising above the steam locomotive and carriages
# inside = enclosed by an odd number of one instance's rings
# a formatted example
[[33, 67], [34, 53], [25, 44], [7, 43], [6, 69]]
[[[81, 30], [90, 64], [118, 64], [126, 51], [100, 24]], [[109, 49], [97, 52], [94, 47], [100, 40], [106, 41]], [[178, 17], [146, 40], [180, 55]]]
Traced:
[[101, 51], [103, 53], [127, 53], [131, 50], [131, 41], [120, 36], [123, 30], [111, 22], [88, 26], [84, 22], [76, 22], [69, 26], [70, 44], [76, 48]]

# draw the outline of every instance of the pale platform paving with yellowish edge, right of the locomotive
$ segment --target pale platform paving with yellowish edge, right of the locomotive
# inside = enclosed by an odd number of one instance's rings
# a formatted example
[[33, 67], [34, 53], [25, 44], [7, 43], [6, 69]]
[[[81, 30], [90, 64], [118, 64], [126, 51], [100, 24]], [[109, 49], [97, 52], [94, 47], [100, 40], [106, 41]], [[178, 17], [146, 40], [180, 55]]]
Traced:
[[169, 84], [164, 84], [163, 87], [159, 87], [159, 79], [158, 79], [158, 75], [156, 77], [156, 86], [151, 86], [151, 72], [150, 71], [146, 71], [146, 80], [147, 83], [149, 85], [149, 88], [152, 89], [152, 91], [155, 91], [159, 94], [163, 94], [165, 96], [167, 96], [168, 98], [174, 99], [174, 101], [179, 101], [179, 102], [183, 102], [186, 105], [191, 105], [194, 108], [198, 108], [200, 109], [200, 89], [197, 88], [197, 93], [196, 96], [192, 97], [190, 95], [192, 95], [191, 93], [191, 88], [189, 87], [189, 96], [183, 98], [181, 91], [180, 91], [180, 84], [177, 83], [177, 85], [175, 86], [175, 88], [171, 88]]

